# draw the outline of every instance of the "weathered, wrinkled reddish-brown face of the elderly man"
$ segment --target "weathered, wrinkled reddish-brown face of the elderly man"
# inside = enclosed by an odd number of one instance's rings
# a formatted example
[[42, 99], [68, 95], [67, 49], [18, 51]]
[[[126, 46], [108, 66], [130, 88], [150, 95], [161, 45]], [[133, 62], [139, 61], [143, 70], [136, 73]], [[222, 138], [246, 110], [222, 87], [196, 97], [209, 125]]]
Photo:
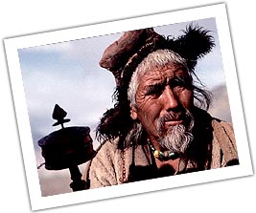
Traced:
[[179, 124], [190, 125], [186, 112], [193, 106], [193, 92], [187, 72], [170, 65], [140, 75], [138, 82], [131, 117], [141, 121], [152, 142], [166, 137]]

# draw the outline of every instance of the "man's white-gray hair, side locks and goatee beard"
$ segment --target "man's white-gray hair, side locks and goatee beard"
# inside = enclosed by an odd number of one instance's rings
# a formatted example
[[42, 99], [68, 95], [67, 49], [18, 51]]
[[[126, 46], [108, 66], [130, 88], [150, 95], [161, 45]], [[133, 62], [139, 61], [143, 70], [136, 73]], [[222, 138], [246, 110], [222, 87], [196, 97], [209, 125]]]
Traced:
[[[183, 59], [179, 54], [174, 53], [170, 50], [157, 50], [153, 53], [150, 53], [146, 58], [143, 59], [143, 61], [138, 65], [135, 72], [131, 76], [131, 79], [128, 85], [128, 100], [133, 107], [135, 108], [137, 107], [136, 92], [139, 86], [139, 77], [147, 74], [147, 72], [149, 72], [152, 69], [165, 68], [170, 64], [182, 67], [182, 69], [188, 72], [189, 75], [191, 74], [191, 72], [189, 72], [188, 70], [186, 60]], [[192, 79], [192, 76], [191, 76], [191, 79]], [[194, 97], [195, 97], [194, 104], [198, 105], [201, 108], [208, 109], [211, 102], [210, 93], [206, 90], [200, 89], [197, 86], [193, 85], [193, 80], [191, 82], [190, 87], [193, 89], [193, 92], [194, 92]], [[186, 112], [186, 114], [188, 115], [188, 119], [189, 119], [188, 126], [186, 127], [183, 124], [177, 125], [174, 128], [174, 133], [169, 134], [168, 137], [161, 136], [160, 134], [161, 125], [159, 124], [158, 126], [159, 142], [163, 147], [169, 150], [172, 150], [174, 152], [184, 153], [186, 151], [190, 142], [193, 140], [193, 136], [191, 132], [194, 126], [194, 117], [190, 112]], [[161, 121], [159, 121], [158, 123], [161, 123]], [[133, 123], [133, 128], [131, 128], [131, 130], [128, 132], [128, 136], [125, 138], [125, 143], [129, 144], [131, 141], [135, 143], [139, 143], [142, 137], [145, 135], [144, 133], [145, 133], [145, 130], [142, 124], [137, 120], [135, 120]], [[169, 140], [174, 141], [174, 139], [175, 139], [175, 142], [172, 142], [173, 144], [170, 145]], [[184, 142], [181, 142], [181, 140], [183, 140]]]

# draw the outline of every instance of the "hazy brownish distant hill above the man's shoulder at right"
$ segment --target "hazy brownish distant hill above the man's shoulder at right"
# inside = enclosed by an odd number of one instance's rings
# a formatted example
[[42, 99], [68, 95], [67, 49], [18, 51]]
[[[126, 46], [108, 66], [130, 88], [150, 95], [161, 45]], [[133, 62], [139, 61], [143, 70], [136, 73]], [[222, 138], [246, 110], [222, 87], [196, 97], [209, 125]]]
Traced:
[[232, 122], [226, 86], [218, 86], [211, 93], [213, 95], [212, 104], [208, 112], [213, 117]]

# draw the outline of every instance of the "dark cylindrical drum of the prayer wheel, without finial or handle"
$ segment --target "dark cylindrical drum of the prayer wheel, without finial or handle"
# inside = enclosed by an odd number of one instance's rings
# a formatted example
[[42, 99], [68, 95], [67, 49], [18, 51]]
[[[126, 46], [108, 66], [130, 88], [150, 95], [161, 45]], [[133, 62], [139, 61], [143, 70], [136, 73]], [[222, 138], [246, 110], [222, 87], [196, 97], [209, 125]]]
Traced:
[[38, 140], [48, 170], [72, 168], [91, 160], [93, 150], [90, 128], [66, 127]]

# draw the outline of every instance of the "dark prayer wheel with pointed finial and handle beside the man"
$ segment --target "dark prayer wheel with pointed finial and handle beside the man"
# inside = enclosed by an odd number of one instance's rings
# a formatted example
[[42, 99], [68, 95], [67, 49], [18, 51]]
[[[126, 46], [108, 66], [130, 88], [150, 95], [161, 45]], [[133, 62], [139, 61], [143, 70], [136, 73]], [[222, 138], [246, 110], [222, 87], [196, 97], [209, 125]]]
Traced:
[[88, 126], [72, 126], [64, 128], [63, 123], [70, 121], [64, 119], [66, 112], [56, 104], [53, 118], [58, 122], [53, 126], [61, 125], [61, 129], [37, 141], [41, 147], [47, 170], [69, 169], [71, 174], [70, 187], [73, 191], [87, 188], [86, 182], [81, 180], [78, 165], [91, 160], [95, 156], [93, 140], [90, 137]]

